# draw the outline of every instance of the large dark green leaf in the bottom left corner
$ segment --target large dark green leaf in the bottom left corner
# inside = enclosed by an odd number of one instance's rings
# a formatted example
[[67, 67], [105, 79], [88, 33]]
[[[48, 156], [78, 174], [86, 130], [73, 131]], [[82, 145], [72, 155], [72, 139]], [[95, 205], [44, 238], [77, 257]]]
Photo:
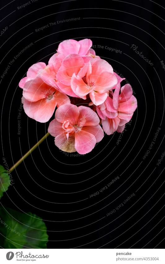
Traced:
[[47, 248], [46, 230], [39, 216], [0, 207], [0, 233], [4, 236], [0, 246], [3, 248]]

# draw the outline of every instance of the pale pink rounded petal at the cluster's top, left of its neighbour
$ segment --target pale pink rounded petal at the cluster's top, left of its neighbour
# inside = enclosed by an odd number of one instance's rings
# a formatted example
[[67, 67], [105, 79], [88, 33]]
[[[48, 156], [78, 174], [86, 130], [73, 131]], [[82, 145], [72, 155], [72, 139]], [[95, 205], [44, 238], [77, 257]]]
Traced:
[[67, 39], [59, 44], [57, 52], [65, 55], [78, 54], [79, 49], [80, 49], [80, 43], [78, 41], [74, 39]]

